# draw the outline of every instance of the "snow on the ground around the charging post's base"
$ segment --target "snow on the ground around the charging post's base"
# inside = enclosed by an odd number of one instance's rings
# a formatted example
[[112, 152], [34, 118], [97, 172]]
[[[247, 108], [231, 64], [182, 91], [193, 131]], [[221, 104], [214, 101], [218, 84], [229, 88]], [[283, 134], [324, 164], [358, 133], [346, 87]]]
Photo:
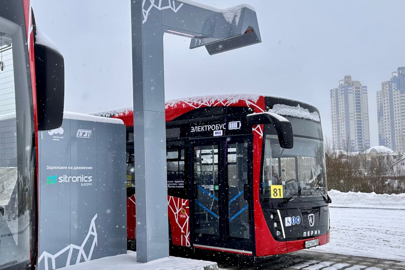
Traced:
[[109, 270], [109, 269], [131, 269], [131, 270], [205, 270], [218, 269], [216, 262], [193, 260], [179, 257], [168, 257], [152, 260], [146, 263], [136, 262], [136, 252], [128, 251], [128, 254], [121, 254], [111, 257], [104, 257], [86, 262], [70, 265], [65, 269], [69, 270]]

